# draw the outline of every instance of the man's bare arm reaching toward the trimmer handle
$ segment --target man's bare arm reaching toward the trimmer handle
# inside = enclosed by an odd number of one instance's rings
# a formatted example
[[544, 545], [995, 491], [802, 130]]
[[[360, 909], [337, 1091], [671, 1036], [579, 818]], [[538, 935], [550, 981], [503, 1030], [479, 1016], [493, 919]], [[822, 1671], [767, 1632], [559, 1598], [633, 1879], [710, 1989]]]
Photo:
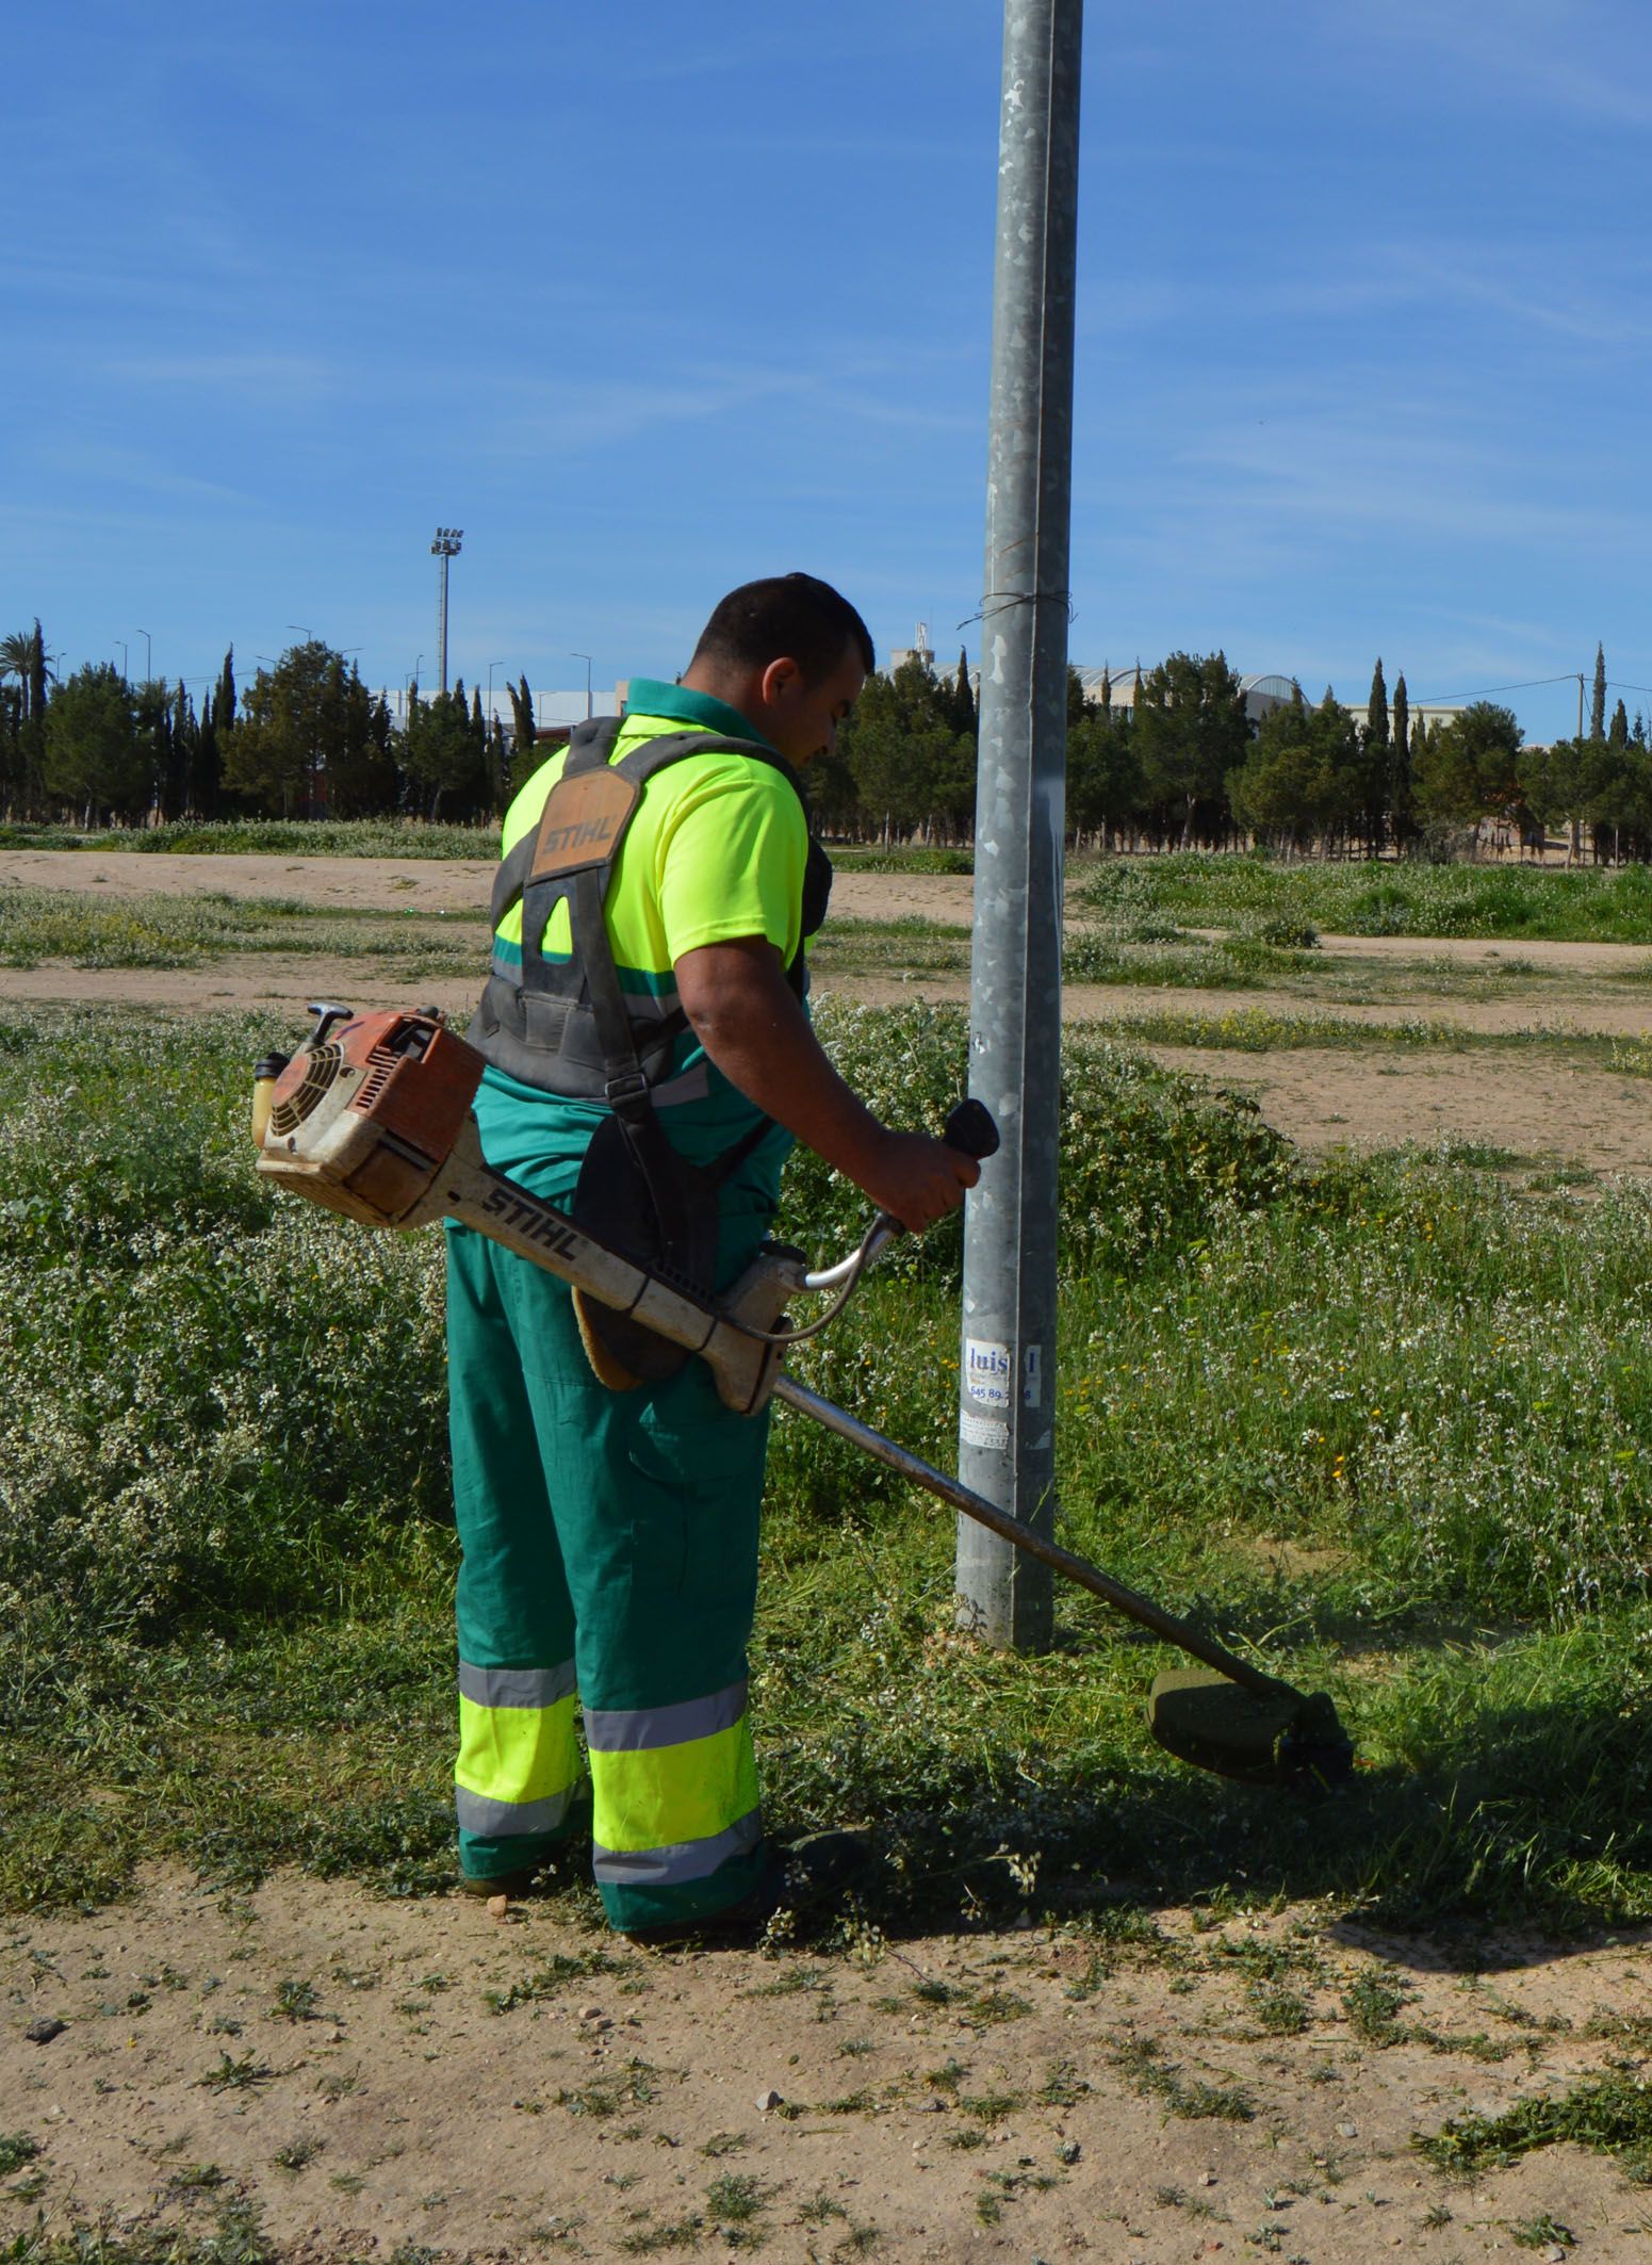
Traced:
[[677, 992], [724, 1078], [901, 1225], [935, 1225], [980, 1178], [973, 1157], [923, 1132], [892, 1132], [844, 1085], [765, 938], [686, 951]]

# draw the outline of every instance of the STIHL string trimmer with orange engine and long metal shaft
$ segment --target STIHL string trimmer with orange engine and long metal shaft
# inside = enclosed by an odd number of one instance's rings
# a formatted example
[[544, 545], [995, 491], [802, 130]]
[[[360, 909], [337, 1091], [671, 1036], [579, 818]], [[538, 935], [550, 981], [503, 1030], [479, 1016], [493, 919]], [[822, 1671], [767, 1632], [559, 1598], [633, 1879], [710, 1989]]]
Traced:
[[[437, 1012], [358, 1017], [342, 1006], [315, 1006], [312, 1012], [317, 1024], [306, 1044], [290, 1060], [267, 1055], [256, 1074], [258, 1171], [278, 1187], [371, 1228], [423, 1228], [439, 1219], [475, 1228], [570, 1282], [584, 1298], [697, 1352], [715, 1377], [717, 1395], [738, 1413], [749, 1416], [769, 1398], [781, 1400], [1204, 1660], [1213, 1674], [1161, 1674], [1147, 1703], [1152, 1735], [1184, 1762], [1249, 1785], [1297, 1789], [1333, 1787], [1349, 1776], [1353, 1746], [1324, 1692], [1299, 1692], [1254, 1667], [781, 1368], [788, 1345], [815, 1336], [842, 1309], [878, 1250], [901, 1232], [894, 1221], [874, 1221], [860, 1248], [821, 1273], [810, 1273], [794, 1250], [765, 1246], [740, 1280], [711, 1300], [670, 1268], [640, 1264], [588, 1234], [487, 1164], [471, 1114], [487, 1065]], [[946, 1137], [978, 1157], [998, 1146], [998, 1130], [978, 1101], [953, 1110]], [[785, 1323], [788, 1307], [799, 1298], [833, 1291], [833, 1305], [812, 1323]]]

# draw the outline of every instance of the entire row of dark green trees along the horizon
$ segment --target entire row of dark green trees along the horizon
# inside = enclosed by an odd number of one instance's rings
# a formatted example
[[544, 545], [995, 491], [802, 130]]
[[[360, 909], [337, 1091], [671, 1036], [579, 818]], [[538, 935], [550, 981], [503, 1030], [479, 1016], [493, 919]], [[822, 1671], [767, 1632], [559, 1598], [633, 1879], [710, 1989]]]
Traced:
[[[405, 813], [496, 818], [543, 750], [534, 698], [509, 686], [514, 727], [482, 695], [419, 698], [392, 716], [346, 657], [319, 639], [260, 666], [244, 689], [235, 655], [206, 698], [183, 684], [131, 684], [91, 661], [63, 682], [41, 623], [0, 639], [0, 811], [93, 827], [106, 820]], [[957, 670], [907, 659], [867, 682], [837, 750], [810, 766], [826, 831], [851, 840], [966, 843], [975, 827], [978, 700]], [[1107, 675], [1086, 698], [1068, 673], [1066, 820], [1079, 847], [1163, 849], [1263, 843], [1283, 854], [1453, 854], [1487, 827], [1541, 843], [1584, 829], [1600, 861], [1652, 858], [1652, 745], [1623, 700], [1607, 716], [1595, 655], [1589, 732], [1521, 745], [1512, 709], [1475, 700], [1412, 718], [1405, 677], [1389, 695], [1378, 659], [1365, 718], [1299, 684], [1254, 723], [1222, 652], [1172, 652], [1138, 673], [1134, 700]]]

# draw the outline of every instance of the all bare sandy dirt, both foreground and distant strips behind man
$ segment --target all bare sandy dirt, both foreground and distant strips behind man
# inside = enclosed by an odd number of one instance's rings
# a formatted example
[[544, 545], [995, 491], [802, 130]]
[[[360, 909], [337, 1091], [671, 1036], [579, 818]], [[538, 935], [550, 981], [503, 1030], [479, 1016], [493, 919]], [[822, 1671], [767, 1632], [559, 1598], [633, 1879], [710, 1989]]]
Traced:
[[[475, 920], [489, 867], [9, 852], [0, 879], [416, 901]], [[969, 881], [849, 874], [837, 911], [969, 917]], [[1337, 947], [1344, 949], [1344, 947]], [[1353, 949], [1353, 945], [1346, 945]], [[1394, 942], [1360, 949], [1403, 960]], [[1428, 956], [1487, 947], [1426, 947]], [[1623, 958], [1625, 949], [1629, 960]], [[1414, 951], [1414, 947], [1412, 947]], [[1598, 978], [1634, 947], [1521, 945], [1546, 1017], [1638, 1033]], [[453, 1010], [471, 983], [421, 985]], [[849, 985], [960, 994], [957, 985]], [[0, 999], [267, 1008], [394, 1003], [360, 960], [0, 972]], [[1075, 988], [1068, 1012], [1247, 1003]], [[1254, 1003], [1279, 1008], [1279, 997]], [[1337, 1010], [1351, 1012], [1351, 1010]], [[1374, 1015], [1530, 1028], [1521, 1001], [1399, 997]], [[1512, 1017], [1512, 1019], [1505, 1019]], [[1652, 1171], [1645, 1089], [1518, 1051], [1188, 1051], [1308, 1146], [1451, 1130], [1595, 1171]], [[867, 1937], [844, 1952], [638, 1952], [539, 1905], [387, 1903], [281, 1875], [247, 1898], [156, 1873], [102, 1912], [0, 1921], [0, 2238], [43, 2222], [181, 2226], [253, 2211], [278, 2256], [785, 2260], [1242, 2258], [1369, 2265], [1573, 2251], [1652, 2265], [1652, 2197], [1550, 2147], [1464, 2183], [1412, 2147], [1446, 2118], [1561, 2093], [1638, 2050], [1643, 1939], [1376, 1941], [1301, 1909], [1095, 1957], [1039, 1928]], [[1279, 1952], [1299, 2020], [1247, 1975]], [[1362, 1993], [1401, 1991], [1392, 2036]], [[1353, 1993], [1353, 1998], [1349, 1998]], [[38, 2025], [38, 2027], [34, 2027]], [[57, 2027], [61, 2025], [61, 2027]], [[29, 2029], [41, 2041], [32, 2041]], [[29, 2152], [34, 2149], [34, 2152]]]

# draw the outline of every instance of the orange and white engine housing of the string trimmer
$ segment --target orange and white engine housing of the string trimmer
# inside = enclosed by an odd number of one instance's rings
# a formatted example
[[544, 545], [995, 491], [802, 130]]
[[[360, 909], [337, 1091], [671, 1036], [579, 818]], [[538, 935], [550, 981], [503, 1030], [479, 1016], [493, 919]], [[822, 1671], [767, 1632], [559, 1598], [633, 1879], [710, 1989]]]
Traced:
[[276, 1078], [258, 1171], [346, 1219], [412, 1225], [484, 1067], [432, 1015], [355, 1015]]

